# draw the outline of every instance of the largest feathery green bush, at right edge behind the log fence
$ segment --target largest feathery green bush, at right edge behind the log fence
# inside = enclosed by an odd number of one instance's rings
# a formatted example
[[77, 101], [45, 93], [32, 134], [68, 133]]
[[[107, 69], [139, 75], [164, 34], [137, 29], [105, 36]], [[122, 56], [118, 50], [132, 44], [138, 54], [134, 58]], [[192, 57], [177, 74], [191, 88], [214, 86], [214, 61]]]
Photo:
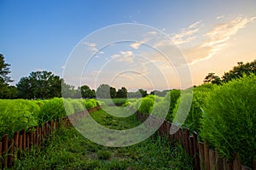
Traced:
[[244, 76], [216, 87], [207, 95], [202, 138], [230, 158], [234, 152], [243, 164], [256, 158], [256, 76]]

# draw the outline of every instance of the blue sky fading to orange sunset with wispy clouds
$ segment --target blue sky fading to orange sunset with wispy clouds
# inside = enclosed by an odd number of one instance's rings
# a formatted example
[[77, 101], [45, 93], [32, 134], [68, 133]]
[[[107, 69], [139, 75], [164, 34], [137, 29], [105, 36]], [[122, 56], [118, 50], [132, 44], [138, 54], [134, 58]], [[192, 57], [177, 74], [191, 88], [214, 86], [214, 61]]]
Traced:
[[1, 0], [0, 54], [13, 85], [46, 70], [76, 87], [188, 88], [256, 59], [255, 8], [253, 0]]

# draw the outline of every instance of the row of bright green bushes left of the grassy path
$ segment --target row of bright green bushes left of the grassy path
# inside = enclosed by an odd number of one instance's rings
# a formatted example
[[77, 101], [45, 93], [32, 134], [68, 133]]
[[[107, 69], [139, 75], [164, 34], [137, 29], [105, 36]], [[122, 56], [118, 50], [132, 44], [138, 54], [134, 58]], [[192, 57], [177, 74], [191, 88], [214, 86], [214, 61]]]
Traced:
[[0, 99], [0, 137], [97, 105], [103, 103], [96, 99]]

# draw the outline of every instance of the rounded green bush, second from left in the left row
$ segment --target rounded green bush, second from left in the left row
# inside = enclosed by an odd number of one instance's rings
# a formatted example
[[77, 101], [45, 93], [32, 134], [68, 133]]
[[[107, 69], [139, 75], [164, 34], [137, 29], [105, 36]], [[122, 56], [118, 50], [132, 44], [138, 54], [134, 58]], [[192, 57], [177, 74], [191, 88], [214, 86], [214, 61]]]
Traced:
[[73, 113], [73, 105], [70, 101], [67, 100], [64, 105], [64, 101], [61, 98], [49, 99], [39, 112], [38, 121], [40, 123], [48, 122]]

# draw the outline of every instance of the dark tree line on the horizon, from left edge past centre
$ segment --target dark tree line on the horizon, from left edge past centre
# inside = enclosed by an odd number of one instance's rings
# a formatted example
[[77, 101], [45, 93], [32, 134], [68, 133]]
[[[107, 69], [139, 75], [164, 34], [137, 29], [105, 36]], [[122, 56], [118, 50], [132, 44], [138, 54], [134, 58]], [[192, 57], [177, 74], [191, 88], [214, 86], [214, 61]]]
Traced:
[[[51, 71], [32, 71], [28, 77], [21, 77], [16, 86], [10, 86], [9, 82], [13, 82], [9, 77], [10, 72], [10, 65], [5, 62], [3, 54], [0, 54], [0, 99], [51, 99], [54, 97], [113, 99], [140, 98], [148, 95], [147, 90], [144, 89], [128, 92], [125, 87], [116, 89], [108, 84], [101, 84], [96, 90], [90, 89], [87, 85], [75, 88]], [[161, 93], [160, 91], [151, 92], [159, 95]]]

